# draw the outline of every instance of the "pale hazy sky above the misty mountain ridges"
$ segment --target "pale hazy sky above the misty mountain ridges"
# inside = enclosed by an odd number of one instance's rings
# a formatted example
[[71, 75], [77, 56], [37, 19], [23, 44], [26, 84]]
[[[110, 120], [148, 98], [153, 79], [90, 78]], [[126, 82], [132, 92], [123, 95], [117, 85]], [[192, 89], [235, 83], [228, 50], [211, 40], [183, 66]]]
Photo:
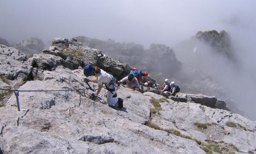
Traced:
[[0, 0], [0, 37], [11, 43], [79, 35], [172, 45], [199, 30], [256, 31], [255, 0]]

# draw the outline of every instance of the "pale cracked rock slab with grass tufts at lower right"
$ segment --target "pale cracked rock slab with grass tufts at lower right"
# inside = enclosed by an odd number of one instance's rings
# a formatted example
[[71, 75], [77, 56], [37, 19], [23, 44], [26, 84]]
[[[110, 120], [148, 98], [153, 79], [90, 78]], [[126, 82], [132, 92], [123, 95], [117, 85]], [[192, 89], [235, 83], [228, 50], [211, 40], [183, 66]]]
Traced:
[[[161, 128], [179, 129], [182, 134], [199, 139], [201, 142], [205, 142], [207, 139], [214, 142], [232, 143], [244, 152], [255, 149], [256, 121], [250, 121], [239, 114], [233, 114], [227, 110], [213, 109], [197, 103], [168, 100], [169, 103], [161, 103], [162, 110], [159, 111], [158, 115], [152, 117], [152, 121], [161, 126]], [[195, 122], [216, 123], [217, 125], [208, 126], [207, 129], [200, 130], [194, 125]], [[239, 126], [230, 128], [226, 125], [226, 122], [237, 123], [245, 127], [247, 131]], [[224, 135], [222, 127], [229, 131], [230, 134]]]

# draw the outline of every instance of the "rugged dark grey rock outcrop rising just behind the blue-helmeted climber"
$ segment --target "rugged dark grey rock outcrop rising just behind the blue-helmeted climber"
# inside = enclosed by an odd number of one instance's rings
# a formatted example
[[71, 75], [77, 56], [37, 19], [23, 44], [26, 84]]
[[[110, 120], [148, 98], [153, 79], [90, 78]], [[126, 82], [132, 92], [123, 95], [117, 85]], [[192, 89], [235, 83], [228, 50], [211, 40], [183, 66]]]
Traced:
[[97, 65], [118, 79], [127, 76], [132, 70], [132, 66], [111, 59], [100, 50], [89, 48], [75, 39], [53, 39], [49, 50], [43, 50], [42, 54], [35, 54], [32, 58], [32, 65], [41, 70], [54, 70], [58, 65], [74, 70], [87, 64]]

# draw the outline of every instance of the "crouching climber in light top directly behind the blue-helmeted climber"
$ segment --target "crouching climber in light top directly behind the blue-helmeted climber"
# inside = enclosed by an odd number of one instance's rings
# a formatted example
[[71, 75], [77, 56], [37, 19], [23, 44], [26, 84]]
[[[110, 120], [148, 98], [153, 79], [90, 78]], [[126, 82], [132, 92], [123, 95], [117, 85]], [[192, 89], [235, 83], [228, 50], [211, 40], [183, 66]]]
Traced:
[[127, 88], [131, 88], [133, 91], [139, 91], [139, 82], [133, 73], [130, 73], [127, 77], [124, 77], [122, 80], [118, 81], [117, 84], [121, 84], [124, 81], [127, 84]]

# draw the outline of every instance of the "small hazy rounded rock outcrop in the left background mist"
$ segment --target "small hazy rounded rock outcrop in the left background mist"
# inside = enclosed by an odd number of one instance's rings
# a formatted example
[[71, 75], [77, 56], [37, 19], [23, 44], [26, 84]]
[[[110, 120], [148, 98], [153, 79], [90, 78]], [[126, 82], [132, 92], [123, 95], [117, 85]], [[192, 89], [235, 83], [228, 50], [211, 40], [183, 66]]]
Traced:
[[39, 38], [29, 38], [27, 40], [22, 40], [14, 45], [14, 48], [19, 49], [27, 56], [32, 56], [36, 53], [41, 53], [45, 48], [45, 44]]

